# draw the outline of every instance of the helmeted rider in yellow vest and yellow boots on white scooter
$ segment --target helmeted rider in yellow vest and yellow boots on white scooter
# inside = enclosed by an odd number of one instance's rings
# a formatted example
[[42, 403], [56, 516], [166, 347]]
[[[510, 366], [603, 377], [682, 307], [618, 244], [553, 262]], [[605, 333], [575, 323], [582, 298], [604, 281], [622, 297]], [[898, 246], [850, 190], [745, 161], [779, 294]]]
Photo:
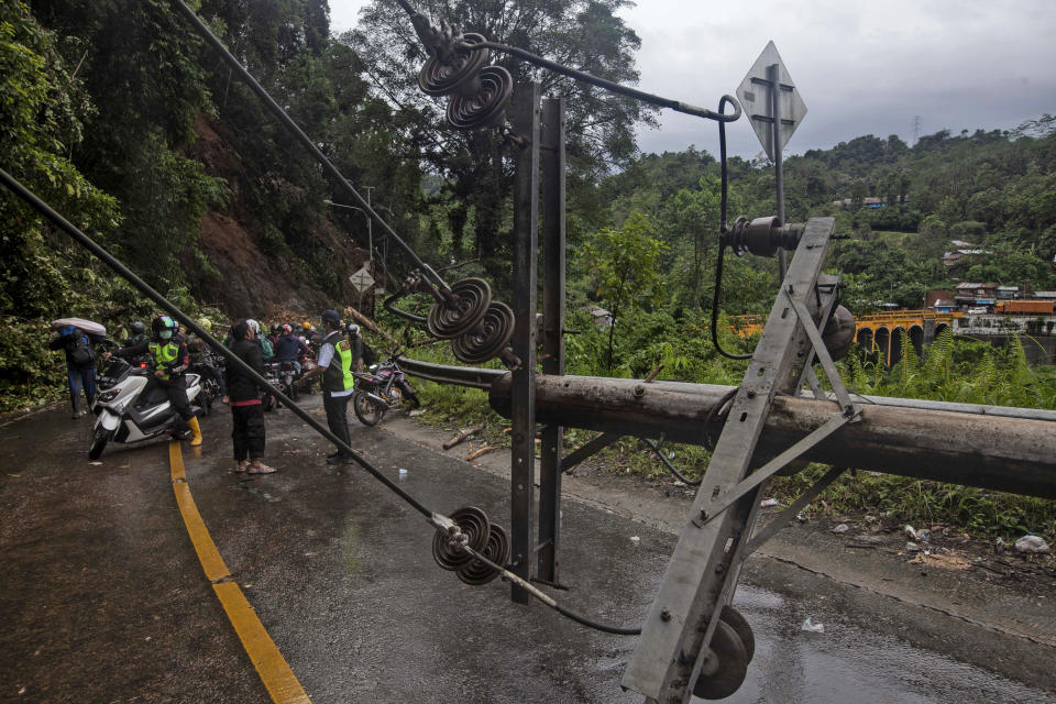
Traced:
[[[114, 350], [113, 354], [121, 358], [146, 354], [150, 358], [153, 375], [147, 380], [141, 394], [145, 396], [155, 387], [164, 389], [173, 408], [190, 428], [190, 444], [199, 446], [201, 429], [198, 427], [198, 419], [190, 410], [190, 402], [187, 400], [186, 374], [190, 366], [190, 354], [187, 352], [187, 342], [178, 330], [179, 327], [175, 320], [168, 316], [158, 316], [151, 322], [150, 339]], [[106, 352], [102, 358], [110, 359], [110, 354]]]

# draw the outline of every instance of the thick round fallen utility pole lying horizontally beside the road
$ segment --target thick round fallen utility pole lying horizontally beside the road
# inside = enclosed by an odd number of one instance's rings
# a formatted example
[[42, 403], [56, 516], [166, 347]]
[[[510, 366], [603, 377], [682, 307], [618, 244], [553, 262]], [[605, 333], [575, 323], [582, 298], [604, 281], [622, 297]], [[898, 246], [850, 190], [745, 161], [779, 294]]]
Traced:
[[[708, 411], [730, 386], [536, 376], [536, 414], [558, 424], [640, 438], [702, 444]], [[509, 416], [509, 376], [492, 384], [492, 407]], [[942, 404], [935, 403], [941, 407]], [[758, 446], [761, 464], [833, 414], [834, 403], [777, 396]], [[1056, 498], [1056, 421], [861, 405], [848, 424], [804, 455], [812, 462], [873, 470]]]

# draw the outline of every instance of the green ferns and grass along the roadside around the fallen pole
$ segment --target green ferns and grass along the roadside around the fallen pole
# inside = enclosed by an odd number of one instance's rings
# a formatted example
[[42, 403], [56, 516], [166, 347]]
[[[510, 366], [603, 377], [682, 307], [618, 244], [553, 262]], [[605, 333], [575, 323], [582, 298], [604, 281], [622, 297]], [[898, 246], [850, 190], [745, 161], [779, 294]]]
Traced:
[[[593, 343], [570, 348], [569, 373], [588, 373], [604, 367], [605, 332], [595, 329], [578, 338], [592, 338]], [[734, 346], [733, 341], [729, 344]], [[704, 341], [698, 339], [690, 341], [686, 349], [706, 348]], [[440, 348], [415, 356], [458, 364]], [[593, 360], [588, 359], [592, 356]], [[727, 361], [702, 356], [693, 359], [692, 363], [682, 362], [678, 373], [672, 373], [669, 365], [659, 378], [724, 385], [740, 383], [743, 369], [734, 371], [727, 366]], [[642, 355], [638, 359], [645, 363], [640, 369], [647, 369], [664, 360], [670, 364], [678, 358], [659, 344], [653, 348], [652, 356]], [[862, 363], [857, 354], [849, 355], [837, 365], [845, 383], [860, 394], [1056, 409], [1056, 374], [1050, 367], [1027, 365], [1023, 349], [1014, 342], [1007, 351], [1002, 351], [979, 342], [955, 340], [947, 331], [930, 348], [923, 362], [919, 362], [909, 349], [904, 350], [904, 363], [892, 370]], [[636, 375], [640, 377], [645, 373], [638, 371]], [[502, 432], [508, 426], [508, 420], [488, 407], [484, 392], [418, 380], [415, 386], [428, 409], [425, 417], [428, 422], [450, 426], [455, 421], [458, 427], [466, 428], [486, 419], [488, 428], [476, 439], [486, 444], [509, 446], [508, 436]], [[569, 430], [565, 451], [572, 451], [595, 435]], [[674, 452], [672, 462], [690, 479], [698, 479], [707, 469], [711, 454], [704, 448], [667, 444], [664, 449]], [[632, 438], [624, 438], [603, 450], [594, 462], [603, 472], [637, 474], [650, 482], [675, 481], [654, 454]], [[778, 476], [771, 483], [769, 493], [789, 503], [826, 470], [826, 466], [811, 464], [794, 476]], [[906, 522], [916, 526], [943, 522], [952, 530], [981, 537], [1015, 539], [1032, 531], [1045, 536], [1049, 541], [1056, 539], [1056, 502], [875, 472], [858, 472], [840, 480], [807, 513], [813, 516], [848, 513], [871, 515], [875, 520], [892, 527]]]

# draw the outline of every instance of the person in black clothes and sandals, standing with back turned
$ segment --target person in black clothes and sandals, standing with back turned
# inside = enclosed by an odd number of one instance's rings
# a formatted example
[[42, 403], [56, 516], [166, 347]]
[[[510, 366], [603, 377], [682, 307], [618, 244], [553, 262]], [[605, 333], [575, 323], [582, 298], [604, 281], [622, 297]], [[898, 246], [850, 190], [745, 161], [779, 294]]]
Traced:
[[[231, 352], [249, 364], [254, 372], [262, 374], [264, 360], [253, 330], [245, 322], [238, 322], [231, 328], [231, 337], [234, 339]], [[224, 375], [231, 403], [234, 471], [248, 474], [272, 474], [276, 470], [264, 464], [264, 406], [256, 382], [234, 364], [227, 366]]]

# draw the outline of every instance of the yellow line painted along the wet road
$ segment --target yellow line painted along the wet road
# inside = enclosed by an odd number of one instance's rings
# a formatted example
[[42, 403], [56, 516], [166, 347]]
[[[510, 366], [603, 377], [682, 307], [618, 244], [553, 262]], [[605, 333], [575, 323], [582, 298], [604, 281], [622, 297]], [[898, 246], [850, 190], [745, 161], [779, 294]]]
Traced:
[[234, 626], [234, 632], [239, 635], [242, 647], [253, 661], [256, 673], [267, 688], [268, 694], [272, 695], [272, 701], [275, 704], [311, 704], [297, 675], [289, 669], [275, 641], [267, 635], [267, 630], [256, 617], [253, 606], [250, 605], [238, 583], [226, 579], [230, 578], [231, 573], [223, 558], [220, 557], [216, 543], [212, 542], [206, 524], [201, 520], [201, 514], [195, 505], [195, 499], [190, 495], [190, 486], [187, 485], [187, 474], [184, 471], [184, 455], [177, 441], [168, 444], [168, 466], [176, 503], [187, 526], [187, 535], [190, 536], [190, 541], [201, 561], [201, 569], [205, 570], [206, 578], [212, 582], [212, 590], [217, 593], [217, 598], [227, 612], [231, 625]]

